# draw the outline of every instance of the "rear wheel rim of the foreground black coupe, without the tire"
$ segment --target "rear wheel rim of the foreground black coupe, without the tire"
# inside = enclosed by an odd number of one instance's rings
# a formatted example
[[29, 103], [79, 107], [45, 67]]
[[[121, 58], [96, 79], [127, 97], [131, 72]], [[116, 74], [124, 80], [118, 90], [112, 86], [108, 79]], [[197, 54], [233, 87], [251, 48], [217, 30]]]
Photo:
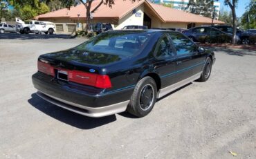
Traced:
[[146, 84], [140, 91], [140, 109], [147, 111], [154, 103], [154, 88], [151, 84]]

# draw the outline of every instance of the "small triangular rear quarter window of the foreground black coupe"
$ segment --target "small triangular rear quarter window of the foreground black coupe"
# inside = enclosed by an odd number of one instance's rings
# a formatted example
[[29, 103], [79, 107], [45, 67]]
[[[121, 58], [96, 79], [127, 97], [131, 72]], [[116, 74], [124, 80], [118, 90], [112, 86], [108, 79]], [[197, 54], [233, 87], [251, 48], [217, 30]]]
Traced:
[[167, 35], [163, 35], [160, 41], [158, 41], [158, 45], [156, 48], [156, 57], [165, 58], [165, 57], [173, 57], [174, 53], [172, 48], [170, 47], [170, 41]]

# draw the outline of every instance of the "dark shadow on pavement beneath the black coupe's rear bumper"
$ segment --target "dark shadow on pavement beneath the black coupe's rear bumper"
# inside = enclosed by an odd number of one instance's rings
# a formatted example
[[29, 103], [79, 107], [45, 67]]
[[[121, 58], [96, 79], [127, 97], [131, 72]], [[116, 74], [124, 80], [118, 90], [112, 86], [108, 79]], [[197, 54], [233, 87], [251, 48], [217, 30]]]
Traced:
[[93, 129], [116, 121], [116, 115], [109, 115], [102, 118], [89, 118], [84, 115], [73, 113], [72, 111], [62, 109], [59, 106], [55, 106], [54, 104], [43, 100], [41, 97], [36, 95], [36, 93], [31, 95], [28, 103], [46, 115], [49, 115], [60, 122], [77, 127], [78, 129]]

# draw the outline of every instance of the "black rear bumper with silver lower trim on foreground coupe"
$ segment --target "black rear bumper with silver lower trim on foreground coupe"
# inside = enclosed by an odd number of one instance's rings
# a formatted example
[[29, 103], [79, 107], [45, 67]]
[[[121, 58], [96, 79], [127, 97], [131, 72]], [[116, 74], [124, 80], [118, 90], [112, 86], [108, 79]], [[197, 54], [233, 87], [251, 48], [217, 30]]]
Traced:
[[102, 117], [126, 110], [133, 88], [113, 93], [102, 93], [98, 88], [61, 84], [43, 73], [32, 77], [37, 95], [69, 111], [89, 117]]

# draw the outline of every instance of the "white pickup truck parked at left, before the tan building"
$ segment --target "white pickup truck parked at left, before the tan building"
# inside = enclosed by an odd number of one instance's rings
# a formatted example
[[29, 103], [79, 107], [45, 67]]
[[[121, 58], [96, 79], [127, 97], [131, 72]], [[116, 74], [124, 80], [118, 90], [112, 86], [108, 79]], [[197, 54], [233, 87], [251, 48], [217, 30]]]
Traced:
[[21, 19], [16, 18], [16, 28], [21, 34], [28, 34], [30, 32], [39, 34], [44, 32], [45, 34], [52, 35], [55, 32], [55, 24], [49, 21], [29, 21], [29, 24], [25, 24]]

